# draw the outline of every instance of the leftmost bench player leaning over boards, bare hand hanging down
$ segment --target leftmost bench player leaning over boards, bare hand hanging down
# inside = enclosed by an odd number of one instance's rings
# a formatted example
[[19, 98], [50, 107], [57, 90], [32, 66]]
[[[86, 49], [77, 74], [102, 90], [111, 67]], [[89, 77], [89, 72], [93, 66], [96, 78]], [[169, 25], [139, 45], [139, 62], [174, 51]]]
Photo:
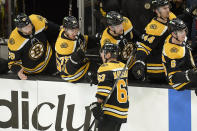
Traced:
[[21, 80], [26, 80], [27, 74], [55, 73], [54, 44], [48, 39], [57, 38], [60, 27], [35, 14], [27, 16], [22, 13], [14, 21], [16, 28], [8, 40], [11, 71]]

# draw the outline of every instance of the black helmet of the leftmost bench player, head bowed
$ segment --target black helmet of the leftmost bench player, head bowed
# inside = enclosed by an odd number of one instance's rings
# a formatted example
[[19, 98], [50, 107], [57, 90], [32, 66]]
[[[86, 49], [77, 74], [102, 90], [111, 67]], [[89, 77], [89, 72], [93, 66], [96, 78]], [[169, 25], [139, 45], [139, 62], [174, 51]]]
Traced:
[[18, 14], [14, 19], [15, 25], [18, 28], [23, 28], [31, 23], [31, 20], [25, 13]]

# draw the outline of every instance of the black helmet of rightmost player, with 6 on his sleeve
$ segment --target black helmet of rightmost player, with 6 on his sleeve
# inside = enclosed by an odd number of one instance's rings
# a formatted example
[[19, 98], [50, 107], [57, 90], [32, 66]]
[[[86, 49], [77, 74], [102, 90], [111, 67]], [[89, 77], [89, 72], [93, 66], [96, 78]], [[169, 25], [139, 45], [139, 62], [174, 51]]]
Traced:
[[186, 29], [186, 32], [187, 32], [186, 24], [179, 18], [174, 18], [168, 22], [168, 31], [170, 33], [174, 31], [181, 31], [184, 29]]

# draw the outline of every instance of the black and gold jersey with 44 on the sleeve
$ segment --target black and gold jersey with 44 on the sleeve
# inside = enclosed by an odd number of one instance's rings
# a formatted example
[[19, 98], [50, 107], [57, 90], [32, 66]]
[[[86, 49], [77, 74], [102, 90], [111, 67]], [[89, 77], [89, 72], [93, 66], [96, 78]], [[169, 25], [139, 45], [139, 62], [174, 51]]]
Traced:
[[[171, 12], [169, 19], [176, 18]], [[146, 26], [142, 41], [138, 42], [136, 61], [146, 63], [146, 73], [150, 80], [165, 80], [161, 52], [166, 37], [169, 35], [167, 24], [153, 18]]]

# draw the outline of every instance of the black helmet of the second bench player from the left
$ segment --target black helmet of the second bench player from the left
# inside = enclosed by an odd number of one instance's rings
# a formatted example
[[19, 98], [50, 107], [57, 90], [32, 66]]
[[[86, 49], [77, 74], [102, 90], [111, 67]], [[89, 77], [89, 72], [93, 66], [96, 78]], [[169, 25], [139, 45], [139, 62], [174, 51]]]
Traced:
[[63, 19], [63, 26], [67, 29], [76, 29], [79, 28], [79, 23], [74, 16], [67, 16]]

